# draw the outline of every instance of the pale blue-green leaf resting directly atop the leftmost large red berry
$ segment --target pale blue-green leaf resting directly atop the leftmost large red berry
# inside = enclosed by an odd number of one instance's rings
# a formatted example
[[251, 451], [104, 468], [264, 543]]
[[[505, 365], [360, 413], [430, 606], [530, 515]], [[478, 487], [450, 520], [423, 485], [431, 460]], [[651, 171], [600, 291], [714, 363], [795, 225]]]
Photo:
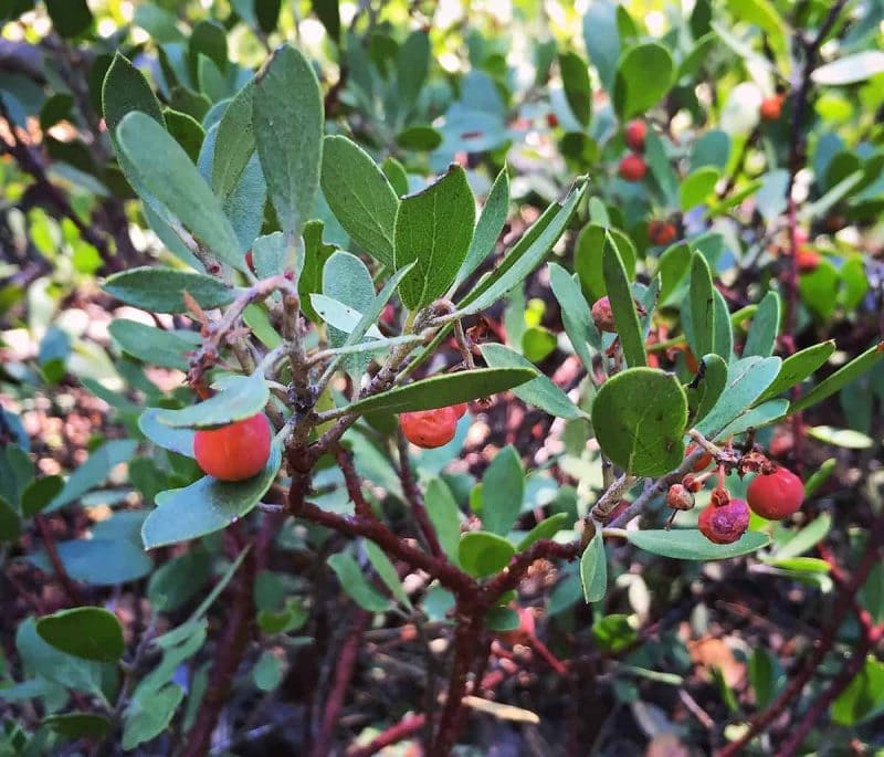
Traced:
[[212, 386], [218, 392], [208, 400], [180, 410], [159, 410], [156, 419], [173, 429], [211, 429], [251, 418], [270, 400], [261, 374], [224, 376]]

